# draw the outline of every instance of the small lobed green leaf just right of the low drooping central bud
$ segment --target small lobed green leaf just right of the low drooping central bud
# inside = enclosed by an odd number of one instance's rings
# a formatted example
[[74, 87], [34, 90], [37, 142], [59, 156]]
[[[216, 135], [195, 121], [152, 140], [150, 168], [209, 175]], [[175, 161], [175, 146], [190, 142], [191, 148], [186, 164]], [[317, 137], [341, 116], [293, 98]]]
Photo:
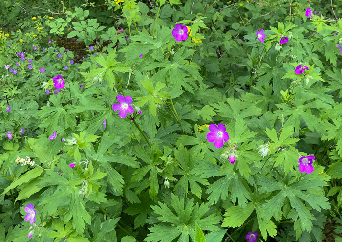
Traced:
[[192, 169], [199, 165], [199, 161], [203, 160], [204, 154], [192, 153], [181, 145], [178, 150], [174, 151], [174, 156], [179, 162], [181, 169], [176, 167], [173, 175], [182, 175], [175, 185], [174, 190], [177, 191], [181, 186], [188, 193], [190, 185], [190, 191], [198, 198], [201, 198], [202, 188], [198, 183], [202, 185], [209, 185], [209, 183], [206, 179], [195, 176]]

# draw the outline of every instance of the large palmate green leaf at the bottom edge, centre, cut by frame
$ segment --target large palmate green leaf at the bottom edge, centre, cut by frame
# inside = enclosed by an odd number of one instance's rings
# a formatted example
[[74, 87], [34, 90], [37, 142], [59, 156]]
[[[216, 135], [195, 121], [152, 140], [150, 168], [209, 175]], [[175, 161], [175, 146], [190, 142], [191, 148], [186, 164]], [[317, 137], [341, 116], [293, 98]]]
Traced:
[[[146, 242], [172, 242], [177, 239], [177, 242], [189, 241], [189, 236], [192, 241], [195, 240], [196, 223], [203, 230], [218, 231], [220, 230], [215, 224], [219, 224], [220, 217], [214, 213], [208, 217], [204, 214], [209, 211], [207, 203], [194, 204], [193, 199], [186, 204], [184, 198], [179, 198], [171, 194], [171, 204], [158, 202], [158, 205], [151, 206], [154, 214], [152, 218], [159, 220], [159, 224], [150, 227], [150, 234], [147, 235], [144, 241]], [[153, 220], [154, 220], [153, 219]]]

